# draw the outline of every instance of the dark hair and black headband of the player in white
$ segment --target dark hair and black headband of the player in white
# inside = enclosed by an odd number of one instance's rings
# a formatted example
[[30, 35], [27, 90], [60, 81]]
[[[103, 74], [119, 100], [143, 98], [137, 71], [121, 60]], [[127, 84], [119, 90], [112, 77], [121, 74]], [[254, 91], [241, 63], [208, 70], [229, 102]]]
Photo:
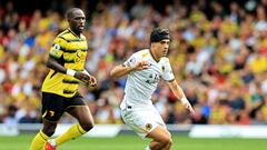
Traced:
[[150, 34], [150, 43], [159, 42], [166, 39], [171, 40], [169, 30], [165, 28], [155, 28]]

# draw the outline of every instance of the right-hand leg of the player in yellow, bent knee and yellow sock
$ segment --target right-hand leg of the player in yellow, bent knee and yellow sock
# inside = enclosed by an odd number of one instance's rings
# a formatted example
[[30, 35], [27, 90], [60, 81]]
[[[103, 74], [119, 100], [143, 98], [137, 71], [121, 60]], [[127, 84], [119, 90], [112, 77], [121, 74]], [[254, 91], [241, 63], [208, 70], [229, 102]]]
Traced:
[[73, 124], [67, 132], [56, 138], [57, 146], [60, 146], [71, 139], [77, 139], [93, 128], [91, 112], [83, 102], [81, 96], [76, 96], [69, 104], [70, 107], [68, 107], [67, 112], [75, 117], [79, 123]]

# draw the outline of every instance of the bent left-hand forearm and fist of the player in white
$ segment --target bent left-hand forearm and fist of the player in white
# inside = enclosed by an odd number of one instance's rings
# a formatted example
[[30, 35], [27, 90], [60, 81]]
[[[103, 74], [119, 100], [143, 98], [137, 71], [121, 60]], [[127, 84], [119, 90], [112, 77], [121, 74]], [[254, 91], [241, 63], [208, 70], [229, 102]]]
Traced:
[[118, 79], [121, 78], [126, 74], [129, 74], [132, 71], [139, 71], [139, 70], [144, 70], [144, 69], [148, 69], [149, 64], [147, 61], [140, 61], [137, 62], [134, 66], [126, 66], [126, 64], [119, 64], [116, 66], [111, 71], [110, 71], [110, 77]]

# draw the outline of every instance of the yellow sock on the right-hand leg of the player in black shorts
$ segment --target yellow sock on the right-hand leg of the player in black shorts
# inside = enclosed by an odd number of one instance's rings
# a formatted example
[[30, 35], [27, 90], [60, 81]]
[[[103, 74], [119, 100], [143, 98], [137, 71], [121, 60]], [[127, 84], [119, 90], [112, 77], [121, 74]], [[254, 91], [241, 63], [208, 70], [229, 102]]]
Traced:
[[73, 124], [69, 128], [67, 132], [65, 132], [62, 136], [56, 138], [57, 146], [67, 142], [71, 139], [76, 139], [85, 134], [87, 131], [85, 131], [80, 124]]

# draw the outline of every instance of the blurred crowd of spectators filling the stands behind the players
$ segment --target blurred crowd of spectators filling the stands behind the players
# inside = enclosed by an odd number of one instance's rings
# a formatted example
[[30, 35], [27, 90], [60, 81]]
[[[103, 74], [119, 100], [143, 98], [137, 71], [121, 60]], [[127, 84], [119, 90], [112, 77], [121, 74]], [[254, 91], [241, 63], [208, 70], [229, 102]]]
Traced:
[[[72, 1], [73, 2], [73, 1]], [[71, 6], [71, 0], [68, 0]], [[72, 3], [73, 4], [73, 3]], [[169, 59], [174, 73], [194, 106], [195, 117], [181, 107], [165, 82], [152, 101], [167, 123], [267, 124], [267, 0], [221, 4], [176, 0], [158, 11], [142, 0], [98, 2], [90, 11], [85, 36], [89, 50], [86, 68], [98, 86], [83, 83], [96, 123], [122, 123], [119, 103], [126, 78], [113, 81], [109, 70], [132, 52], [149, 47], [155, 27], [172, 36]], [[0, 122], [41, 122], [41, 83], [55, 37], [68, 27], [53, 9], [20, 14], [12, 1], [0, 7]], [[75, 120], [65, 114], [60, 120]]]

